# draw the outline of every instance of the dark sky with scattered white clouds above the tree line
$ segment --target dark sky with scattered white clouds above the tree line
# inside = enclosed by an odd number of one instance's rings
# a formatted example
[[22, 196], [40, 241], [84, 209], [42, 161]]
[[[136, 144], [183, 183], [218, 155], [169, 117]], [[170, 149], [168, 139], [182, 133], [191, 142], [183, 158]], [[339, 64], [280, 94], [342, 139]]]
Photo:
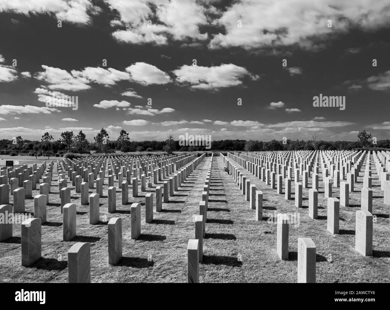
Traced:
[[1, 138], [381, 140], [389, 94], [388, 0], [0, 0]]

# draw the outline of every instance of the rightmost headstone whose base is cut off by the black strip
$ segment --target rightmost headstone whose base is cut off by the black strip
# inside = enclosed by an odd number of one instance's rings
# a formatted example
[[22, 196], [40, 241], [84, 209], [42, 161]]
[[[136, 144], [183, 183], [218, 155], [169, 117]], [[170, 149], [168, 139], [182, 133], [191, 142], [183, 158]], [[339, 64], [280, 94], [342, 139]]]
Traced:
[[316, 283], [316, 245], [310, 238], [298, 238], [298, 283]]

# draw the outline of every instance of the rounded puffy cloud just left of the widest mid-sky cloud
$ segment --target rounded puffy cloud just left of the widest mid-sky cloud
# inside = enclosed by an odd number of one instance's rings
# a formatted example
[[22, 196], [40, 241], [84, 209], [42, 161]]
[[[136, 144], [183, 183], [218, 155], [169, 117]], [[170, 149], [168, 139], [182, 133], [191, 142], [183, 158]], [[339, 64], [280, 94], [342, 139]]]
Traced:
[[145, 62], [136, 62], [127, 67], [126, 71], [131, 74], [131, 80], [144, 85], [167, 84], [171, 82], [171, 78], [167, 73]]

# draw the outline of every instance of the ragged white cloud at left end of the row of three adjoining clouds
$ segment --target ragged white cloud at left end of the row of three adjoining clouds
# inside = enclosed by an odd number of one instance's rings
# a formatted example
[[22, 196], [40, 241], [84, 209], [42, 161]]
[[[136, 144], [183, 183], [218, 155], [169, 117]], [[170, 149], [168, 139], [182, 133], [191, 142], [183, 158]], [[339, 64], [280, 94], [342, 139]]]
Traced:
[[72, 76], [72, 74], [60, 68], [54, 68], [45, 65], [42, 65], [42, 67], [45, 71], [37, 72], [34, 76], [37, 80], [49, 83], [50, 85], [48, 85], [48, 88], [51, 90], [61, 89], [76, 91], [90, 88], [90, 86], [87, 85], [89, 81], [86, 78], [75, 78]]

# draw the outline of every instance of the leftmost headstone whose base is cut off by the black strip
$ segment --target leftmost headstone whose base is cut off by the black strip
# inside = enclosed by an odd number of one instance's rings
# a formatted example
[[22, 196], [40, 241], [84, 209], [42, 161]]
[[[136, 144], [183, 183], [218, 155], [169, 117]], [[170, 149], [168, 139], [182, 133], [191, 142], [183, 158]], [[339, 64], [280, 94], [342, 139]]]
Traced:
[[[88, 183], [87, 183], [88, 184]], [[68, 251], [68, 283], [91, 282], [91, 250], [89, 242], [78, 242]]]

